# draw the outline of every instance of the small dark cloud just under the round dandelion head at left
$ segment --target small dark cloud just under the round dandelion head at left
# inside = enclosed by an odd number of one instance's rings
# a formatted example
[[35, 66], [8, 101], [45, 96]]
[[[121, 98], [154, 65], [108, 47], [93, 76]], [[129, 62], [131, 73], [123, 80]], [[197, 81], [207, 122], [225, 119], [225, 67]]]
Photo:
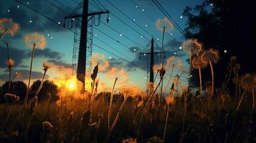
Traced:
[[[31, 51], [27, 54], [27, 56], [31, 55]], [[49, 58], [49, 59], [57, 59], [60, 60], [62, 58], [63, 54], [61, 54], [58, 51], [52, 51], [49, 48], [46, 49], [36, 49], [34, 51], [34, 57], [45, 57], [45, 58]]]

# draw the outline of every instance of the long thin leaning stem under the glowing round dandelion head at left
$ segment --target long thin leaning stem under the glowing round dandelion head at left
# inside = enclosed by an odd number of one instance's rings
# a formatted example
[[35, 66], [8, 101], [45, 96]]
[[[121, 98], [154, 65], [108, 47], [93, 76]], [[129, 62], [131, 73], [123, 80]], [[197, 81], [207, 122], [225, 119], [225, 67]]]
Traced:
[[29, 69], [29, 82], [27, 84], [27, 92], [26, 92], [26, 97], [24, 99], [24, 105], [23, 105], [23, 110], [22, 110], [21, 121], [22, 121], [22, 118], [24, 116], [25, 107], [27, 105], [27, 99], [29, 98], [29, 86], [30, 86], [30, 80], [31, 80], [31, 74], [32, 74], [32, 64], [33, 64], [33, 59], [34, 59], [34, 49], [35, 49], [35, 46], [36, 46], [36, 44], [33, 45], [32, 54], [31, 54], [30, 69]]

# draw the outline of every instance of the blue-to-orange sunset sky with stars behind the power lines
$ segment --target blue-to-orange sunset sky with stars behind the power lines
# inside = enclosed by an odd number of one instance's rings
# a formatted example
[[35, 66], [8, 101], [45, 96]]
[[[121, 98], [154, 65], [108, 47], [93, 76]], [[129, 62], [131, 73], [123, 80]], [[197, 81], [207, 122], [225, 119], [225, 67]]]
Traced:
[[[74, 46], [74, 28], [71, 27], [72, 19], [66, 21], [65, 16], [73, 14], [80, 0], [1, 0], [0, 19], [11, 18], [20, 26], [20, 30], [11, 36], [6, 34], [0, 41], [0, 81], [7, 80], [6, 70], [6, 43], [10, 47], [10, 57], [14, 59], [13, 71], [22, 73], [21, 80], [27, 81], [31, 49], [24, 42], [27, 34], [44, 35], [47, 44], [43, 50], [36, 49], [32, 66], [32, 79], [42, 78], [42, 62], [44, 60], [57, 66], [47, 71], [47, 79], [57, 80], [65, 78], [65, 74], [75, 76], [72, 70], [72, 54]], [[164, 9], [171, 15], [181, 29], [186, 27], [186, 17], [182, 12], [186, 6], [201, 4], [202, 0], [158, 0]], [[31, 9], [29, 9], [29, 6]], [[37, 12], [33, 11], [35, 9]], [[161, 11], [151, 0], [90, 0], [89, 11], [110, 11], [108, 14], [95, 16], [93, 19], [93, 56], [100, 62], [98, 79], [104, 86], [111, 87], [115, 77], [120, 84], [135, 85], [145, 89], [148, 82], [149, 57], [140, 53], [148, 52], [150, 40], [155, 39], [154, 50], [161, 51], [163, 32], [156, 28], [156, 21], [163, 19]], [[78, 11], [81, 13], [81, 10]], [[53, 21], [45, 18], [49, 17]], [[125, 15], [124, 15], [125, 14]], [[100, 20], [99, 20], [100, 19]], [[186, 59], [188, 55], [181, 49], [184, 36], [174, 27], [172, 31], [166, 31], [163, 47], [166, 59], [171, 56], [179, 57], [184, 61], [184, 67], [188, 68]], [[95, 46], [96, 45], [96, 46]], [[155, 56], [156, 64], [160, 64], [160, 55]], [[128, 62], [129, 61], [129, 62]], [[94, 62], [97, 63], [97, 62]], [[105, 65], [106, 62], [109, 65]], [[138, 66], [139, 65], [139, 66]], [[93, 65], [94, 66], [94, 65]], [[104, 67], [108, 66], [106, 69]], [[167, 69], [167, 74], [170, 73]], [[13, 73], [14, 73], [13, 72]], [[90, 72], [87, 72], [89, 75]], [[178, 69], [174, 74], [180, 74]], [[189, 74], [181, 77], [181, 83], [186, 84]], [[122, 80], [123, 79], [123, 80]]]

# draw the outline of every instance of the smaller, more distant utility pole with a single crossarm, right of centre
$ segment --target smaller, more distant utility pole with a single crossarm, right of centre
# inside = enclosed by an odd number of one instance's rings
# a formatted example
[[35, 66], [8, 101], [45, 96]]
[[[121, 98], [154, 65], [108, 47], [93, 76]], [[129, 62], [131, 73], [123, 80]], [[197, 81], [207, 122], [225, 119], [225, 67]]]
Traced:
[[[162, 52], [155, 52], [153, 50], [153, 38], [151, 39], [151, 51], [150, 52], [145, 52], [145, 53], [140, 53], [140, 55], [146, 56], [146, 55], [150, 55], [150, 73], [149, 73], [149, 82], [153, 82], [153, 64], [154, 64], [154, 56], [156, 54], [161, 54]], [[165, 52], [163, 51], [163, 54]], [[141, 56], [140, 56], [141, 57]]]

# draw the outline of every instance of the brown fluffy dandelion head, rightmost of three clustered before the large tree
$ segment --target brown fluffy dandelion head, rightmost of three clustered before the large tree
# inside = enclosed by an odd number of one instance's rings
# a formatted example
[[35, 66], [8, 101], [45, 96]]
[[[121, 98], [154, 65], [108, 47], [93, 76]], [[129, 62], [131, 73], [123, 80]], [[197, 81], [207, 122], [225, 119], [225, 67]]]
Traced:
[[212, 63], [217, 63], [218, 59], [219, 59], [219, 55], [218, 55], [219, 51], [217, 51], [216, 49], [209, 49], [209, 51], [204, 51], [204, 53], [202, 54], [202, 61], [209, 63], [209, 61], [211, 61]]

